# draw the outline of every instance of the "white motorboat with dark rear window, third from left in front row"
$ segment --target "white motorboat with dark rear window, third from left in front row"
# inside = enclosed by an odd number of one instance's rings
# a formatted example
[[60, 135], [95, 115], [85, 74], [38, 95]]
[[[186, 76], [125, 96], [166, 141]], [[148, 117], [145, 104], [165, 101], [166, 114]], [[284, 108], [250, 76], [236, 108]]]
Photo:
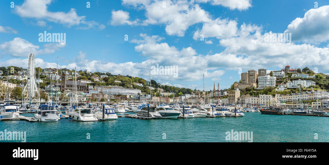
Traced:
[[91, 108], [77, 108], [70, 112], [70, 117], [76, 121], [98, 121], [97, 116], [92, 113]]

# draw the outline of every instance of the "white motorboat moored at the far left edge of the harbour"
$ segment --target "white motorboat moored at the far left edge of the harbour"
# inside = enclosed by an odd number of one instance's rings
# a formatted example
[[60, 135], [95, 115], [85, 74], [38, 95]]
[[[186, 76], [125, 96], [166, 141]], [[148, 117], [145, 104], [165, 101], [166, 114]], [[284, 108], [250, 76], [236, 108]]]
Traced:
[[14, 101], [5, 101], [5, 105], [0, 108], [0, 118], [19, 117], [18, 107], [13, 105]]

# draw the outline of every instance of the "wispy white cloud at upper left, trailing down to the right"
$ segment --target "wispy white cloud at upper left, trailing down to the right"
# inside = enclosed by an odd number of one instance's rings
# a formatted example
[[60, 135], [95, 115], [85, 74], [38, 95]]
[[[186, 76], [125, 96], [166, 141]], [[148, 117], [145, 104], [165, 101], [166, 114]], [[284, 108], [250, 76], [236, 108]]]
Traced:
[[95, 21], [85, 21], [86, 16], [78, 16], [76, 10], [73, 8], [68, 12], [48, 11], [48, 6], [51, 2], [52, 0], [25, 0], [21, 6], [15, 5], [14, 12], [22, 18], [36, 19], [38, 26], [45, 26], [45, 20], [60, 23], [68, 27], [79, 24], [86, 25], [86, 27], [80, 27], [79, 29], [89, 29], [94, 26], [102, 26]]

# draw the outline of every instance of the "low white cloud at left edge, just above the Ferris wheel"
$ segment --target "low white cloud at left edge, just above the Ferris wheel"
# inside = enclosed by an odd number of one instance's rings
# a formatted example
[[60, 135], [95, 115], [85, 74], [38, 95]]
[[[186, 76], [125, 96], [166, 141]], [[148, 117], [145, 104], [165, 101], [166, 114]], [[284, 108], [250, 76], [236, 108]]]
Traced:
[[12, 41], [2, 43], [0, 49], [16, 57], [25, 57], [29, 53], [34, 53], [35, 55], [54, 53], [64, 46], [61, 43], [48, 43], [43, 45], [44, 49], [39, 50], [38, 45], [33, 45], [25, 39], [16, 37]]

